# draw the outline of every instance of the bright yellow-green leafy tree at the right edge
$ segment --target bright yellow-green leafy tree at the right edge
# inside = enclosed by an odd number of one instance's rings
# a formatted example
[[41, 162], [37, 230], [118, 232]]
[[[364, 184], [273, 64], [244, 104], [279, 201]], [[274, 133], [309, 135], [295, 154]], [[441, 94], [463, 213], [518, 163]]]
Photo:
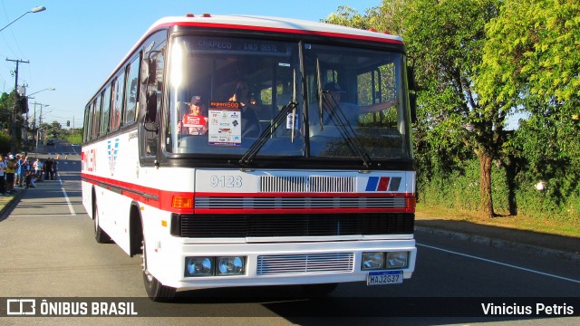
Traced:
[[580, 126], [573, 119], [580, 106], [580, 5], [506, 0], [487, 34], [481, 102], [531, 114], [514, 143], [515, 155], [527, 162], [523, 181], [546, 181], [556, 206], [580, 197]]

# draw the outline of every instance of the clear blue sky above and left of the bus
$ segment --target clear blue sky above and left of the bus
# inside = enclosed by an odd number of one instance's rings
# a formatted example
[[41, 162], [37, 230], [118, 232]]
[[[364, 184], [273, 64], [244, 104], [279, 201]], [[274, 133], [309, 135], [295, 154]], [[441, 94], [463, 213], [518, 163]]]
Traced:
[[[318, 22], [348, 5], [360, 14], [381, 0], [0, 0], [0, 28], [28, 13], [0, 32], [0, 91], [18, 84], [29, 100], [43, 104], [43, 122], [58, 121], [66, 128], [82, 127], [84, 106], [115, 66], [147, 31], [165, 16], [185, 14], [256, 14]], [[46, 89], [54, 88], [55, 91]], [[43, 91], [46, 90], [46, 91]], [[47, 105], [47, 106], [45, 106]], [[36, 105], [36, 117], [41, 105]]]

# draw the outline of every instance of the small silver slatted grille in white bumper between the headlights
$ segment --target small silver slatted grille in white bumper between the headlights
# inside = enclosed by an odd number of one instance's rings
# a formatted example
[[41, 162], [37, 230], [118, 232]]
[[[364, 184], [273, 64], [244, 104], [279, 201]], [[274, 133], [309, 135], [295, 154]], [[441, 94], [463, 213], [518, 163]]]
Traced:
[[257, 257], [257, 274], [281, 273], [350, 273], [353, 253], [337, 254], [275, 254]]

